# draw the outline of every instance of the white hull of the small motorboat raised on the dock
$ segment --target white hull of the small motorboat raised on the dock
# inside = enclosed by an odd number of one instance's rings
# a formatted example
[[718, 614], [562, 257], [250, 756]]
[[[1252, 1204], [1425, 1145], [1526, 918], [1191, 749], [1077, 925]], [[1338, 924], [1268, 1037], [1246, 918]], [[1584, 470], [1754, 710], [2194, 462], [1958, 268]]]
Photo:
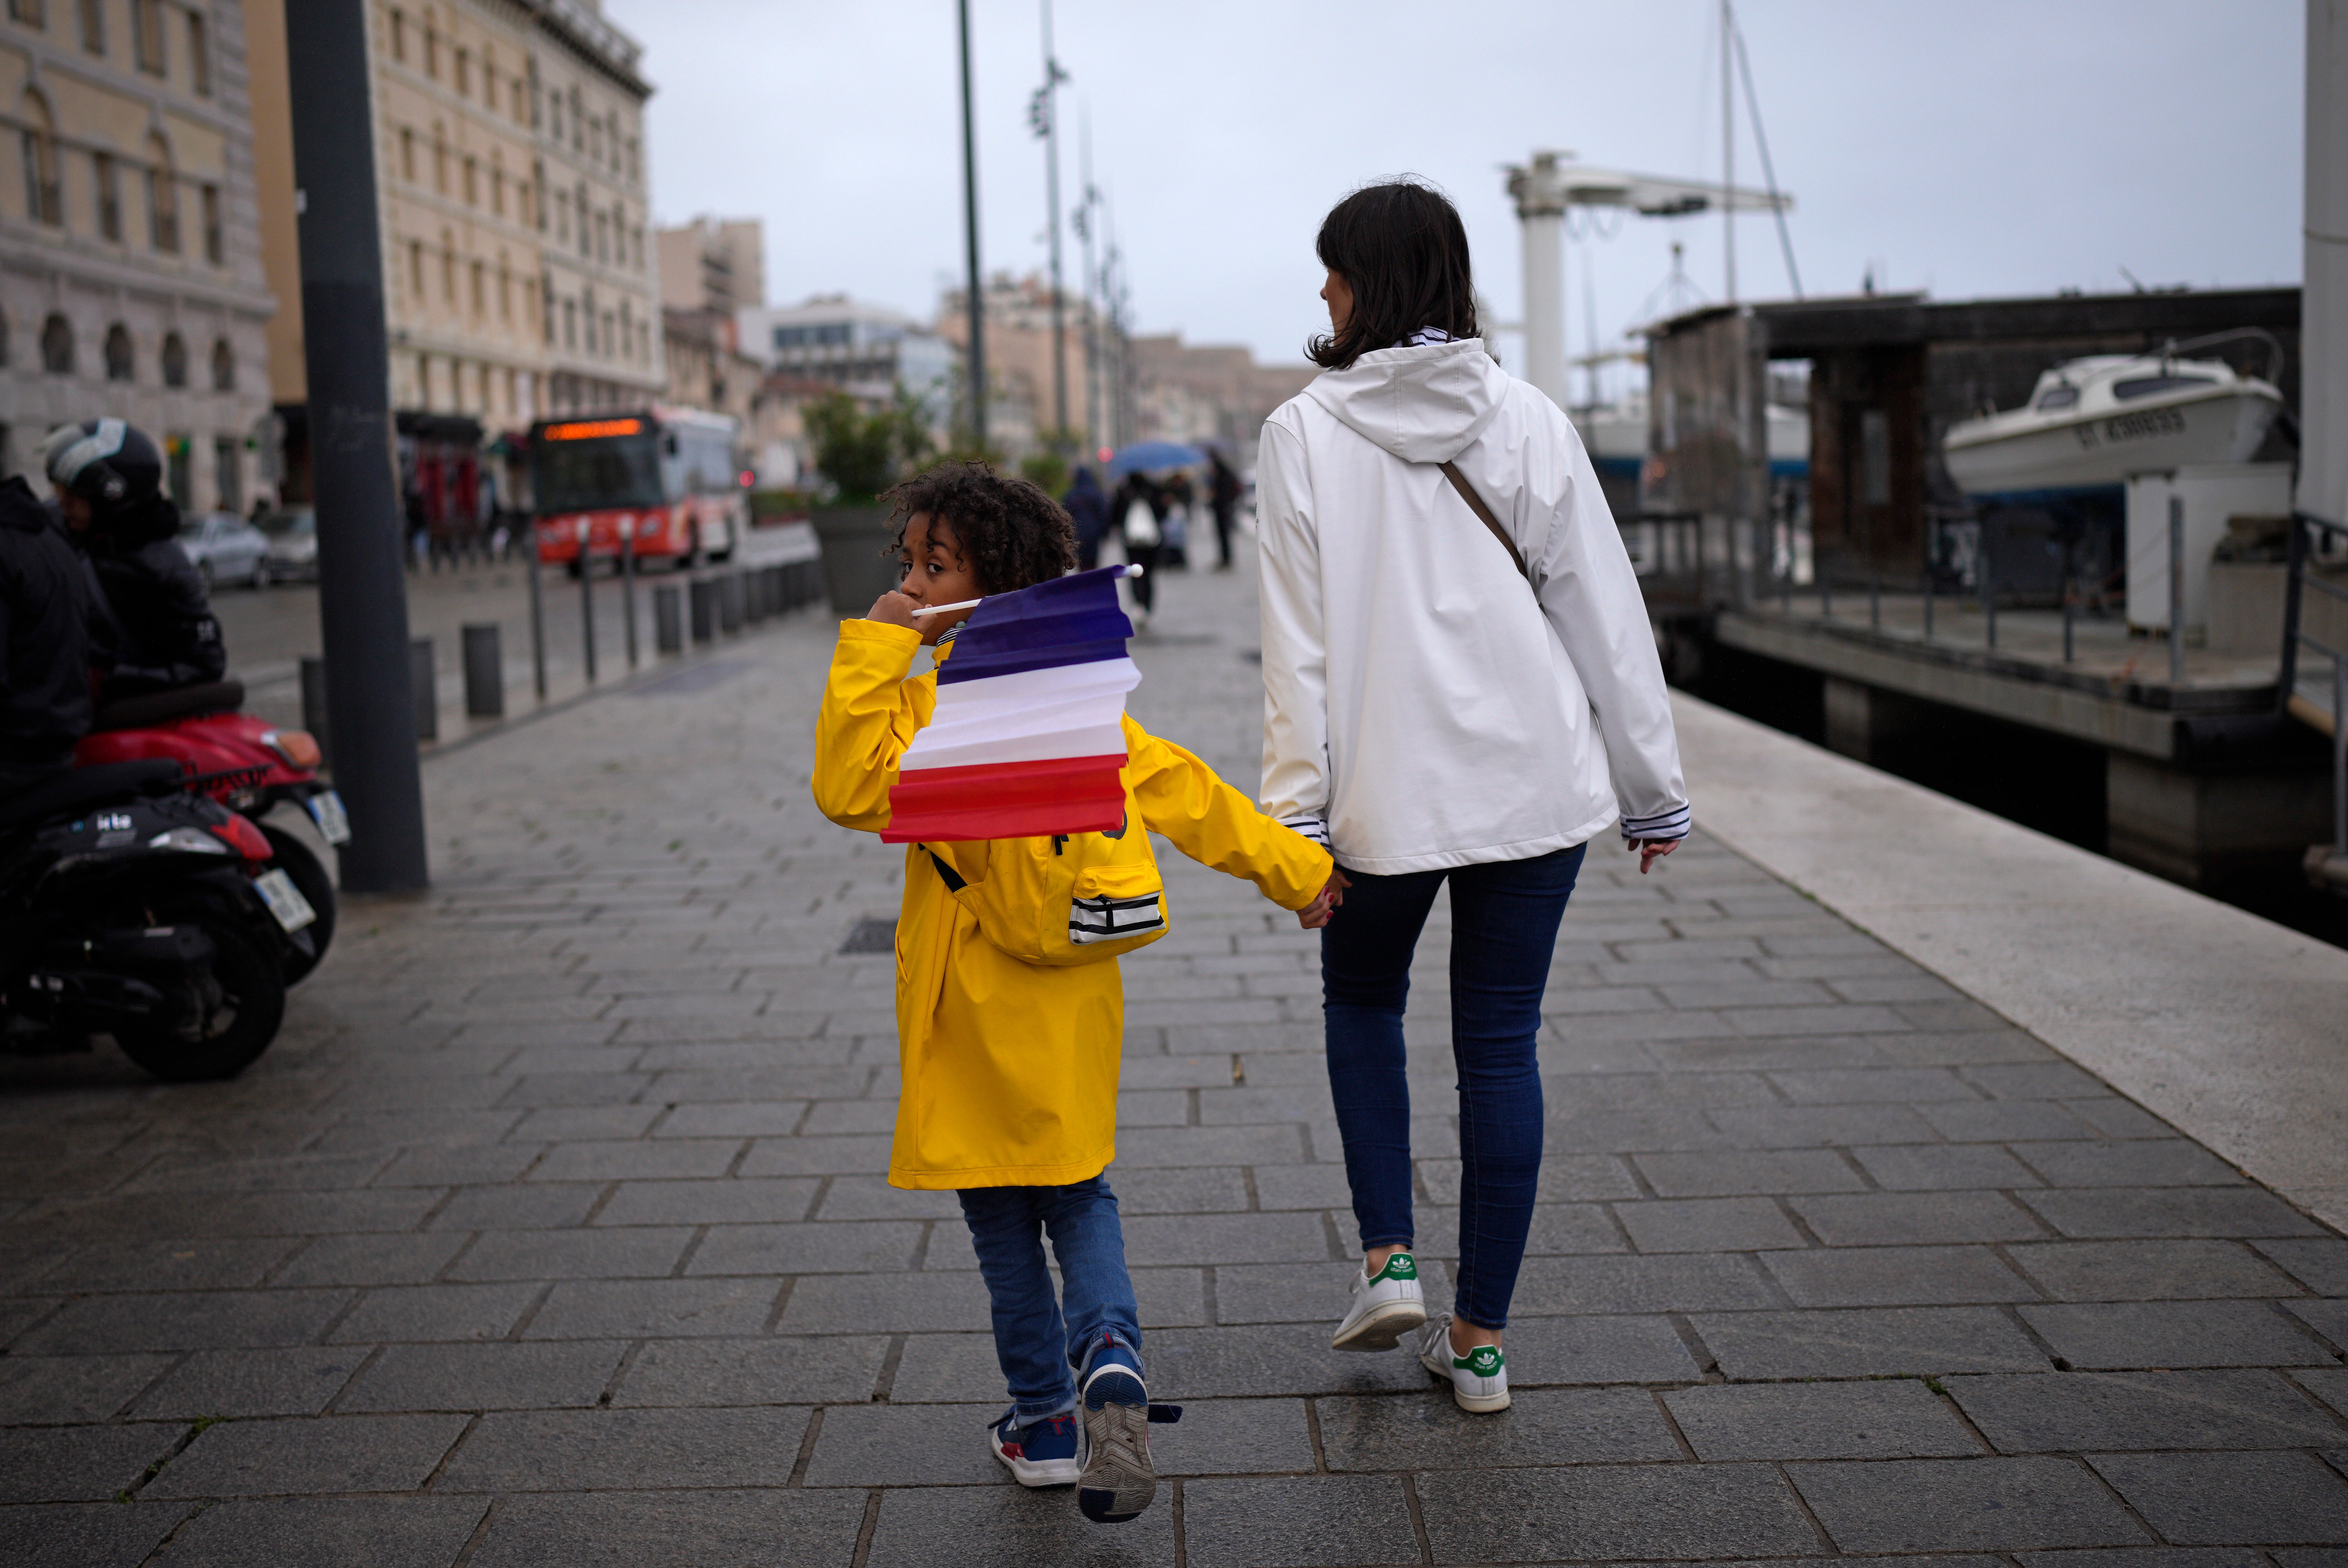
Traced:
[[1951, 432], [1949, 479], [1968, 495], [2017, 491], [2090, 491], [2130, 474], [2202, 462], [2249, 462], [2282, 404], [2263, 392], [2226, 387], [2209, 397], [2170, 399], [2078, 420], [1961, 441]]

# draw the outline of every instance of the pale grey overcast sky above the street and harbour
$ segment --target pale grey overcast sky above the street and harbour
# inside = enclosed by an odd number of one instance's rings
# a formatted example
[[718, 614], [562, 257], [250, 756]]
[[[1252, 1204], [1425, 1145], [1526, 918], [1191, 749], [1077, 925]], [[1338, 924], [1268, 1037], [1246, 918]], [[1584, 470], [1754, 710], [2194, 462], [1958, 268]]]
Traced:
[[[643, 40], [653, 207], [765, 221], [768, 298], [916, 315], [960, 275], [951, 0], [606, 0]], [[1458, 202], [1477, 282], [1522, 312], [1500, 164], [1719, 178], [1716, 0], [1061, 0], [1064, 200], [1089, 115], [1143, 331], [1296, 359], [1327, 324], [1313, 232], [1352, 185]], [[2299, 0], [1745, 0], [1738, 7], [1808, 293], [1935, 298], [2299, 282]], [[1035, 0], [972, 0], [984, 265], [1045, 263]], [[1738, 101], [1738, 178], [1759, 183]], [[1604, 228], [1613, 228], [1608, 218]], [[1571, 345], [1615, 340], [1672, 242], [1721, 298], [1721, 221], [1620, 221], [1568, 249]], [[1789, 293], [1766, 214], [1742, 296]], [[1066, 268], [1078, 286], [1078, 246]], [[1594, 300], [1585, 291], [1594, 286]], [[1507, 350], [1507, 340], [1503, 340]], [[1522, 364], [1519, 354], [1505, 354]]]

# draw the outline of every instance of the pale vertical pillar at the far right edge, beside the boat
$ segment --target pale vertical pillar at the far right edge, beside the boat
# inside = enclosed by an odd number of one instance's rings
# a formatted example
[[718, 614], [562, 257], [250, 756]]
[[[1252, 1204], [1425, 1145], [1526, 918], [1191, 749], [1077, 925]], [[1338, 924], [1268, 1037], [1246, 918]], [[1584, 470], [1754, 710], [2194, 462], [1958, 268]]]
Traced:
[[2348, 0], [2308, 0], [2299, 507], [2348, 521]]

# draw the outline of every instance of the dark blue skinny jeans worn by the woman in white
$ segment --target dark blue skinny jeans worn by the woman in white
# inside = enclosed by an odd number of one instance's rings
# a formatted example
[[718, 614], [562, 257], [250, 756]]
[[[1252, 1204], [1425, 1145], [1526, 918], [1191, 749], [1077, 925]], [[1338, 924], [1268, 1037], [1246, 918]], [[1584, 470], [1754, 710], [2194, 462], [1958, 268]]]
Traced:
[[1322, 930], [1329, 1099], [1362, 1249], [1409, 1246], [1411, 1084], [1402, 1007], [1411, 951], [1435, 890], [1451, 880], [1451, 1059], [1460, 1091], [1460, 1268], [1453, 1312], [1507, 1326], [1540, 1181], [1540, 995], [1583, 850], [1449, 871], [1348, 871], [1345, 904]]

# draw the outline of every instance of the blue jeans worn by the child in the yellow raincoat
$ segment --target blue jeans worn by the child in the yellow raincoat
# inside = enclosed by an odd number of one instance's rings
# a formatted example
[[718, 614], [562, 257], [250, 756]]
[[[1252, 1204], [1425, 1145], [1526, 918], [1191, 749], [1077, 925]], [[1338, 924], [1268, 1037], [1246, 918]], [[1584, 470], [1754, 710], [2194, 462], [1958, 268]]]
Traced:
[[[1075, 1378], [1104, 1343], [1141, 1359], [1141, 1310], [1125, 1272], [1125, 1228], [1106, 1176], [1066, 1188], [963, 1188], [963, 1218], [996, 1317], [996, 1359], [1017, 1425], [1075, 1408]], [[1066, 1322], [1043, 1261], [1052, 1237], [1068, 1291]], [[1071, 1376], [1071, 1371], [1075, 1376]]]

